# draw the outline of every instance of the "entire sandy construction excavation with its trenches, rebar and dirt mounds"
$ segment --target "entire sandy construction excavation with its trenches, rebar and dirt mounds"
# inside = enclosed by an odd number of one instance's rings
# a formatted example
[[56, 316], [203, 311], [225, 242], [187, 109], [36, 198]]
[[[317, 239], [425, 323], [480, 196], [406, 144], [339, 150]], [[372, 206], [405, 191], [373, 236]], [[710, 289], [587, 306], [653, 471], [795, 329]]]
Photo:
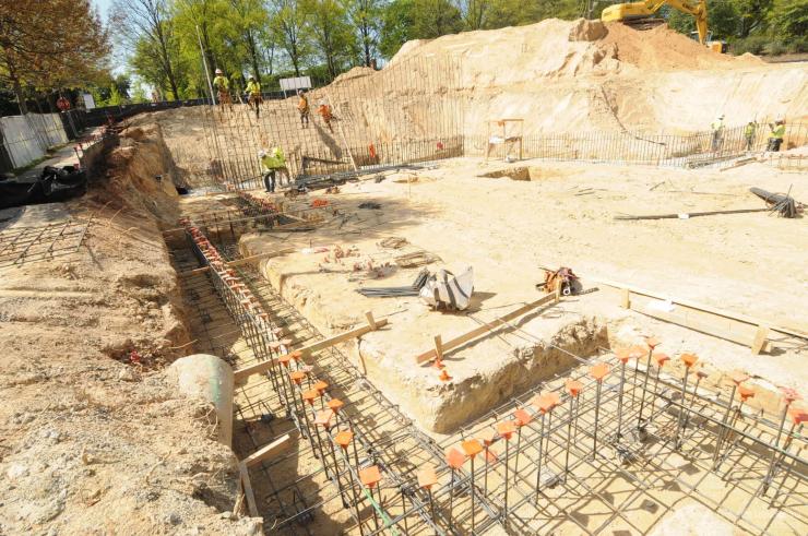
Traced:
[[0, 211], [0, 534], [808, 534], [805, 62], [554, 19], [305, 95]]

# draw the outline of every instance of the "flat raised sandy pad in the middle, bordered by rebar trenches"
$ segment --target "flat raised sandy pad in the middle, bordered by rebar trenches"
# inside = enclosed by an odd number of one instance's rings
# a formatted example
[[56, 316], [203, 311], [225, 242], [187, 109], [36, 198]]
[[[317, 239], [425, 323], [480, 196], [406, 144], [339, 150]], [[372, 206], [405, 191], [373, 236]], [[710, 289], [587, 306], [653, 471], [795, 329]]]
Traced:
[[[748, 348], [656, 322], [617, 307], [602, 293], [574, 298], [520, 325], [510, 337], [488, 337], [448, 360], [452, 382], [415, 367], [414, 357], [448, 340], [536, 299], [539, 265], [569, 265], [591, 281], [611, 279], [663, 295], [691, 299], [772, 324], [804, 330], [808, 315], [803, 266], [808, 247], [805, 219], [765, 213], [649, 222], [616, 222], [617, 214], [682, 213], [760, 207], [750, 186], [786, 191], [805, 199], [794, 174], [753, 165], [733, 171], [521, 163], [532, 180], [480, 177], [502, 164], [458, 159], [438, 169], [391, 175], [380, 183], [347, 186], [328, 199], [350, 216], [316, 234], [260, 234], [242, 238], [246, 253], [325, 247], [329, 253], [296, 253], [264, 262], [264, 273], [320, 329], [337, 332], [363, 322], [364, 311], [389, 318], [389, 330], [364, 337], [365, 366], [426, 428], [445, 431], [470, 415], [490, 408], [540, 377], [569, 366], [560, 346], [590, 355], [610, 344], [635, 343], [656, 333], [666, 352], [703, 354], [717, 369], [745, 369], [777, 384], [804, 386], [808, 376], [799, 348], [752, 357]], [[407, 180], [414, 182], [407, 183]], [[459, 194], [459, 192], [462, 192]], [[309, 200], [310, 201], [310, 200]], [[378, 211], [358, 209], [375, 201]], [[331, 209], [326, 209], [331, 210]], [[373, 278], [368, 261], [381, 266], [399, 251], [384, 250], [385, 237], [405, 238], [458, 272], [475, 270], [473, 318], [430, 312], [415, 298], [365, 298], [360, 285], [409, 284], [417, 270], [382, 269]], [[333, 248], [358, 249], [358, 257], [334, 262]], [[787, 253], [785, 253], [787, 252]], [[326, 260], [328, 259], [328, 260]], [[767, 259], [777, 259], [776, 283]], [[437, 263], [430, 269], [439, 266]], [[363, 281], [364, 279], [364, 281]], [[476, 319], [476, 320], [475, 320]]]

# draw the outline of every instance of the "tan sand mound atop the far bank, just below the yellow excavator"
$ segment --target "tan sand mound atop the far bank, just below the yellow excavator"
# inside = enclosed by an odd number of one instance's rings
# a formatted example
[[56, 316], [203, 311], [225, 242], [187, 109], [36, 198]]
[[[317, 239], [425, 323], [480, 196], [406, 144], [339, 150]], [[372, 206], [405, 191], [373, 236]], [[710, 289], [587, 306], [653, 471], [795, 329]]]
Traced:
[[666, 25], [640, 31], [584, 19], [549, 19], [527, 26], [408, 41], [390, 64], [436, 55], [461, 56], [466, 68], [496, 71], [500, 83], [536, 76], [605, 74], [627, 68], [668, 71], [762, 64], [756, 57], [713, 52]]

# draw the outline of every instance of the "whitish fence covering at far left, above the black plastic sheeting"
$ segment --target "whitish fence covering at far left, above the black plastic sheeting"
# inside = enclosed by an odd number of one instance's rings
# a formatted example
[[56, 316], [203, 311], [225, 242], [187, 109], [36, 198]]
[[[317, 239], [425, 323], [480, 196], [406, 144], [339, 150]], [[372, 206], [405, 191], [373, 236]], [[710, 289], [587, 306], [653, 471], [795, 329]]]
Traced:
[[2, 144], [14, 167], [41, 158], [48, 147], [68, 142], [59, 114], [0, 117]]

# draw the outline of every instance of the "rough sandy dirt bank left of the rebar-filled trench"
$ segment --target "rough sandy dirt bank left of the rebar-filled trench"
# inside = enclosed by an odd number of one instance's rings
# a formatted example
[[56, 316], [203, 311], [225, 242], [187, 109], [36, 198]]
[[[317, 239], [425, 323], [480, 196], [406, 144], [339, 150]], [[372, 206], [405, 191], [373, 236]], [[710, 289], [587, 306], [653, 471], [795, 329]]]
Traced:
[[189, 348], [157, 227], [167, 158], [154, 124], [129, 131], [87, 195], [11, 226], [92, 218], [75, 253], [0, 269], [0, 533], [257, 531], [222, 516], [238, 469], [212, 407], [161, 371]]

